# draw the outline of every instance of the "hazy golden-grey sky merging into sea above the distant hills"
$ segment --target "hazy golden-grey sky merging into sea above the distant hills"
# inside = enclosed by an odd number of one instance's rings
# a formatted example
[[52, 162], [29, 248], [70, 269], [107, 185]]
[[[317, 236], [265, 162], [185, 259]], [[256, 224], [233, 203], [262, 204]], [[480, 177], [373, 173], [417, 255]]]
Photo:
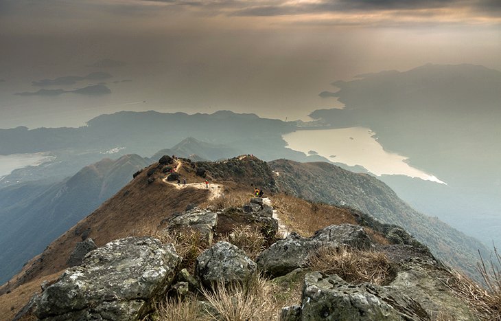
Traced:
[[[0, 128], [78, 126], [124, 109], [306, 119], [336, 106], [318, 97], [330, 82], [357, 74], [500, 70], [501, 1], [0, 0], [0, 44]], [[89, 67], [103, 58], [125, 65]], [[32, 85], [94, 71], [113, 77]], [[111, 93], [15, 95], [100, 82]]]

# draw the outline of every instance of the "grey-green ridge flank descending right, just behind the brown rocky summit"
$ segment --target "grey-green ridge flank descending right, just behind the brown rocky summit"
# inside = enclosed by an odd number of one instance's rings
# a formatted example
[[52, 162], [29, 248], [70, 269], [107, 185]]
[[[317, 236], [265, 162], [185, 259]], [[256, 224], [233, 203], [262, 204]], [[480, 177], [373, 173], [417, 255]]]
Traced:
[[371, 175], [352, 173], [325, 162], [279, 159], [268, 164], [280, 190], [311, 201], [355, 208], [382, 223], [399, 225], [428, 245], [438, 258], [471, 275], [476, 275], [478, 250], [489, 256], [480, 241], [412, 209]]

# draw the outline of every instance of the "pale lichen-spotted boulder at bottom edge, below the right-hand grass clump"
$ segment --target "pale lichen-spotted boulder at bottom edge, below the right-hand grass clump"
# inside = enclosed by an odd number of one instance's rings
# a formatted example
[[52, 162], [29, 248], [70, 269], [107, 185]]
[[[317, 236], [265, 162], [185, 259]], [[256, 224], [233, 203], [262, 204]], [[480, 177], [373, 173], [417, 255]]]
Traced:
[[306, 274], [301, 320], [416, 320], [400, 313], [377, 294], [375, 286], [351, 285], [335, 274]]

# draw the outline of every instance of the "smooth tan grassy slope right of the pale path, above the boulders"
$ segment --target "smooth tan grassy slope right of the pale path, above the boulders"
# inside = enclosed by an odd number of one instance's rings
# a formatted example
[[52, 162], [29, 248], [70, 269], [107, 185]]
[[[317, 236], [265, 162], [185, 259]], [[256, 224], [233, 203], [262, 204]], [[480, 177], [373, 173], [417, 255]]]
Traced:
[[317, 230], [331, 224], [356, 224], [351, 213], [342, 208], [283, 194], [273, 196], [272, 200], [283, 224], [302, 236], [312, 236]]

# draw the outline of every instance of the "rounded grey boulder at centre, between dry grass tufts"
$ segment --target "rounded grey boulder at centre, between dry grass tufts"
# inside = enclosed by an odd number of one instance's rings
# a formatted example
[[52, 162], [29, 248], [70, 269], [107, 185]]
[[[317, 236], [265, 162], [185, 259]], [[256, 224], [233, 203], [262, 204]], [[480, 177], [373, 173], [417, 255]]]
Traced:
[[205, 287], [222, 282], [242, 282], [256, 272], [257, 266], [245, 252], [228, 242], [218, 242], [205, 250], [195, 262], [195, 276]]

